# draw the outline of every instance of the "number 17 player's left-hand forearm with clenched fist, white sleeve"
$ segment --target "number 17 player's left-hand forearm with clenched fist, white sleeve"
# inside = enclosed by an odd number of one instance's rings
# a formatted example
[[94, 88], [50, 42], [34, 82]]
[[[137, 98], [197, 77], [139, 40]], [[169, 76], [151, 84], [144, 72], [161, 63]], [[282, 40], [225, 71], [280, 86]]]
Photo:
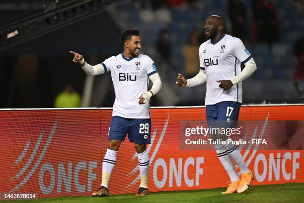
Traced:
[[193, 78], [190, 78], [188, 80], [185, 79], [185, 77], [182, 74], [178, 74], [176, 79], [176, 85], [179, 87], [194, 87], [201, 84], [206, 83], [207, 81], [207, 75], [205, 70], [200, 70], [200, 72], [194, 76]]

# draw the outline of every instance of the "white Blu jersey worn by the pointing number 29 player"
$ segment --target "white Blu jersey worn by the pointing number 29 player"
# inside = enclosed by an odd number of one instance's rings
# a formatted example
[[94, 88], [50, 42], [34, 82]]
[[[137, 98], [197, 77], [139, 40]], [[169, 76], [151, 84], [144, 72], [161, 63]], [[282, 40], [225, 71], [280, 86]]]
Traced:
[[123, 54], [106, 59], [101, 65], [111, 71], [115, 91], [112, 116], [150, 118], [150, 101], [139, 104], [139, 97], [148, 92], [149, 76], [157, 73], [149, 56], [139, 54], [126, 58]]

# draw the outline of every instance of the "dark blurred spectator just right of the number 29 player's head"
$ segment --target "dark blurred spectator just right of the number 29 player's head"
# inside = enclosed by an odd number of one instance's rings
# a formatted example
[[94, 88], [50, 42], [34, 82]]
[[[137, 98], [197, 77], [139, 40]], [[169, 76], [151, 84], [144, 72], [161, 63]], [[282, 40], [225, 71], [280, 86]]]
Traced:
[[168, 61], [171, 56], [171, 46], [166, 29], [160, 30], [158, 40], [156, 42], [156, 48], [157, 51], [163, 56], [163, 58]]

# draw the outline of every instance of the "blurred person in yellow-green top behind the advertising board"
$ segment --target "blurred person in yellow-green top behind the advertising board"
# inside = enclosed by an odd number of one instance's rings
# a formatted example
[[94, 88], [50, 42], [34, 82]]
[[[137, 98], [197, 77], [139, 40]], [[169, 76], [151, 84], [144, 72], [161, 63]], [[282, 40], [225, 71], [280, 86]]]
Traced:
[[74, 91], [73, 86], [68, 84], [64, 87], [64, 91], [56, 96], [55, 108], [76, 108], [80, 107], [80, 95]]

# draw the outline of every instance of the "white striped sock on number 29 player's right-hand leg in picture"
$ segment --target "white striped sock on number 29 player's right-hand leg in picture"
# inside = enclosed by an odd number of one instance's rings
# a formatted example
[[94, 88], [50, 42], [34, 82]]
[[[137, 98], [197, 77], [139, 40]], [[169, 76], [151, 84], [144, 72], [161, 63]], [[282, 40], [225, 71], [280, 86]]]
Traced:
[[141, 175], [141, 185], [140, 188], [148, 188], [148, 173], [149, 173], [149, 154], [146, 151], [137, 154], [138, 157], [138, 167]]

